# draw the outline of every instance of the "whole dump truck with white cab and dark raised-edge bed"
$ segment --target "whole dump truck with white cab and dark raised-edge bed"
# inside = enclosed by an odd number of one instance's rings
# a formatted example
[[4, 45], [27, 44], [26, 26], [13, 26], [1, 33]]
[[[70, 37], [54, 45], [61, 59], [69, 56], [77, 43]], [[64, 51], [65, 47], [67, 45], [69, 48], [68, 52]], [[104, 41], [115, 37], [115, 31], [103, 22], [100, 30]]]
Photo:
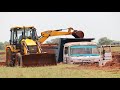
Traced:
[[99, 64], [101, 55], [94, 38], [60, 38], [57, 62], [66, 64]]

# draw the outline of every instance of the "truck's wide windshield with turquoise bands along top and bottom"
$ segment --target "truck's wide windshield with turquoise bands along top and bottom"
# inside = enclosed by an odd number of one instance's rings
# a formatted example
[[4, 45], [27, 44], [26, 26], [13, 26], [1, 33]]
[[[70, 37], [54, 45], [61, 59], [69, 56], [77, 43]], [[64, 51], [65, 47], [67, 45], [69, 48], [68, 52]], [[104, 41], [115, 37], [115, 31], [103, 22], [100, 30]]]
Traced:
[[93, 45], [79, 45], [70, 47], [71, 56], [99, 56], [97, 46]]

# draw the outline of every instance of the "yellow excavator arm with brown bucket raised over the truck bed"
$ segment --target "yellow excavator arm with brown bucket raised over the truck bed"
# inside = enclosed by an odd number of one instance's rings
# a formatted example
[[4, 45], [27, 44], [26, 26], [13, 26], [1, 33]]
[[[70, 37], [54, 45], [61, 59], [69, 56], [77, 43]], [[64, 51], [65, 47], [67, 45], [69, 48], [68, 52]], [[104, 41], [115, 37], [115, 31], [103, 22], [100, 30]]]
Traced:
[[39, 38], [39, 42], [43, 43], [50, 36], [59, 36], [59, 35], [73, 35], [75, 38], [83, 38], [84, 33], [82, 31], [74, 30], [73, 28], [68, 28], [68, 31], [63, 31], [63, 29], [59, 30], [47, 30], [41, 32], [41, 37]]

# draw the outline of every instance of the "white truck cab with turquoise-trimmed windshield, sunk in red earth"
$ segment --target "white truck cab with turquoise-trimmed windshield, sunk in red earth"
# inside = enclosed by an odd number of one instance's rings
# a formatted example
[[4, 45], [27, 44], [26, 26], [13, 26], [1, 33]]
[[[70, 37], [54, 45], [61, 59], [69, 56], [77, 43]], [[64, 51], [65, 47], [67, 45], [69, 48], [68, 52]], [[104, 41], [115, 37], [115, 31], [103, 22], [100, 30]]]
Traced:
[[95, 42], [69, 42], [64, 45], [63, 63], [99, 63], [100, 60]]

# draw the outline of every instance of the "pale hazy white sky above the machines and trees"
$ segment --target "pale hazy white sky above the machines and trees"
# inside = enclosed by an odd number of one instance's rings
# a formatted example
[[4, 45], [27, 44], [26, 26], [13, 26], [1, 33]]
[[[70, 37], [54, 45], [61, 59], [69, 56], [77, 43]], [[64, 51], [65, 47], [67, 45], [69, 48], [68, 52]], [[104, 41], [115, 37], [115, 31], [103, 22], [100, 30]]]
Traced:
[[38, 35], [49, 29], [73, 27], [95, 41], [101, 37], [120, 41], [120, 12], [0, 12], [0, 42], [9, 41], [13, 26], [34, 26]]

